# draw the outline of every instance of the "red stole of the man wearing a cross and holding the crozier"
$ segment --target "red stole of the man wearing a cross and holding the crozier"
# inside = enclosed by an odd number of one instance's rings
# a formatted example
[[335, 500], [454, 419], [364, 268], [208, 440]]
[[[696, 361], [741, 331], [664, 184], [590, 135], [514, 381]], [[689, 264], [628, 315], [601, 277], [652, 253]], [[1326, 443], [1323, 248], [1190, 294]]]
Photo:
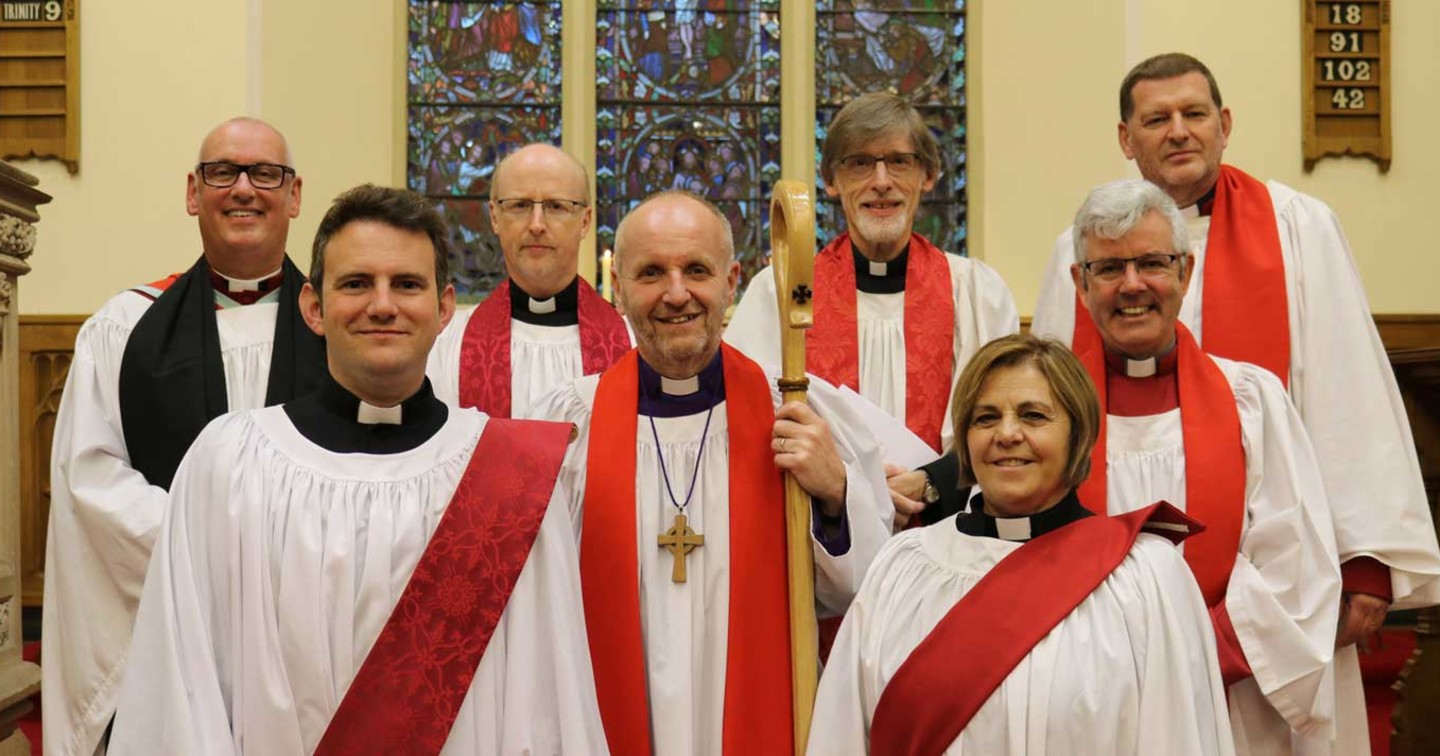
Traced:
[[[730, 433], [730, 624], [723, 749], [791, 753], [789, 588], [785, 495], [770, 452], [775, 405], [765, 373], [721, 344]], [[639, 356], [600, 376], [590, 420], [580, 588], [595, 688], [611, 752], [651, 753], [635, 536], [635, 433]], [[668, 579], [668, 577], [667, 577]], [[703, 590], [693, 579], [690, 590]]]

